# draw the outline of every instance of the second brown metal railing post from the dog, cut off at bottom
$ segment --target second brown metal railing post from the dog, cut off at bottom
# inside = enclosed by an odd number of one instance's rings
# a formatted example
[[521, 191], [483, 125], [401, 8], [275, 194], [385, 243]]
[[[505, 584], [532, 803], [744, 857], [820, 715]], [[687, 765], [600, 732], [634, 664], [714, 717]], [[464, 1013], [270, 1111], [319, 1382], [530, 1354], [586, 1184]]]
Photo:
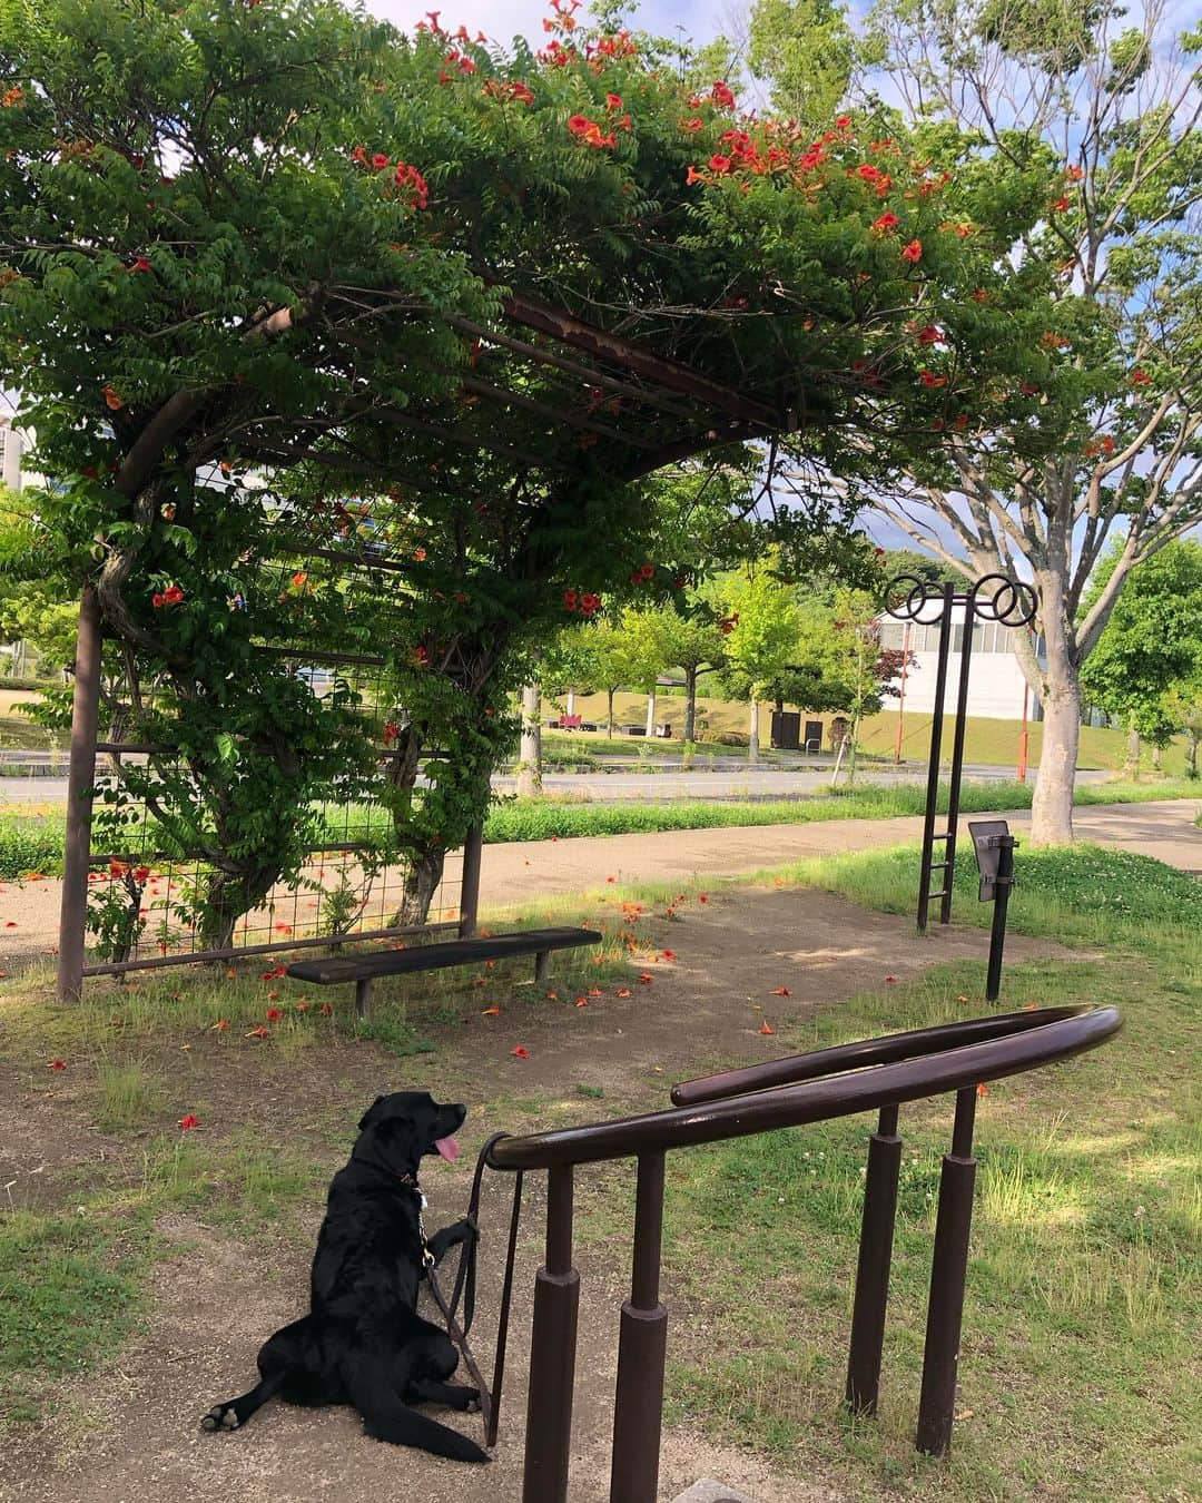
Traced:
[[618, 1342], [610, 1503], [655, 1503], [658, 1494], [667, 1354], [667, 1311], [660, 1303], [663, 1229], [664, 1154], [640, 1153], [634, 1266]]

